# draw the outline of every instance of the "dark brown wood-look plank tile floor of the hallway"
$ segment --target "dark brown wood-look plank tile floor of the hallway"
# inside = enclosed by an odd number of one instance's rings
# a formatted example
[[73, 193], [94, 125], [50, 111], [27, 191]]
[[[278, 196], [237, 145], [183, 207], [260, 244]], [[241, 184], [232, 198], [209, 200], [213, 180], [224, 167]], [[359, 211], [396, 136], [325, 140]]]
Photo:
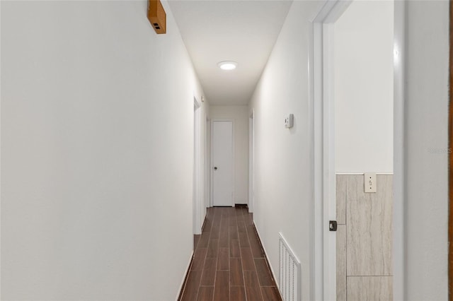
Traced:
[[248, 208], [208, 208], [194, 247], [180, 300], [282, 300]]

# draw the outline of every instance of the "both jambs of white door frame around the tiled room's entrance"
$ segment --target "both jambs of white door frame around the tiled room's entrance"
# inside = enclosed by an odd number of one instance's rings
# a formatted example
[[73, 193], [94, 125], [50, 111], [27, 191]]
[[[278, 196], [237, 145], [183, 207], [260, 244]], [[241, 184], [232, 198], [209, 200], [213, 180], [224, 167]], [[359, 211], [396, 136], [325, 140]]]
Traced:
[[[333, 23], [352, 0], [326, 0], [312, 20], [309, 54], [310, 124], [312, 127], [311, 171], [314, 179], [314, 220], [311, 220], [311, 300], [336, 300], [336, 235], [328, 221], [336, 220], [336, 177], [333, 107]], [[406, 1], [394, 1], [394, 300], [405, 300], [404, 271], [406, 193], [404, 98], [406, 67]]]

